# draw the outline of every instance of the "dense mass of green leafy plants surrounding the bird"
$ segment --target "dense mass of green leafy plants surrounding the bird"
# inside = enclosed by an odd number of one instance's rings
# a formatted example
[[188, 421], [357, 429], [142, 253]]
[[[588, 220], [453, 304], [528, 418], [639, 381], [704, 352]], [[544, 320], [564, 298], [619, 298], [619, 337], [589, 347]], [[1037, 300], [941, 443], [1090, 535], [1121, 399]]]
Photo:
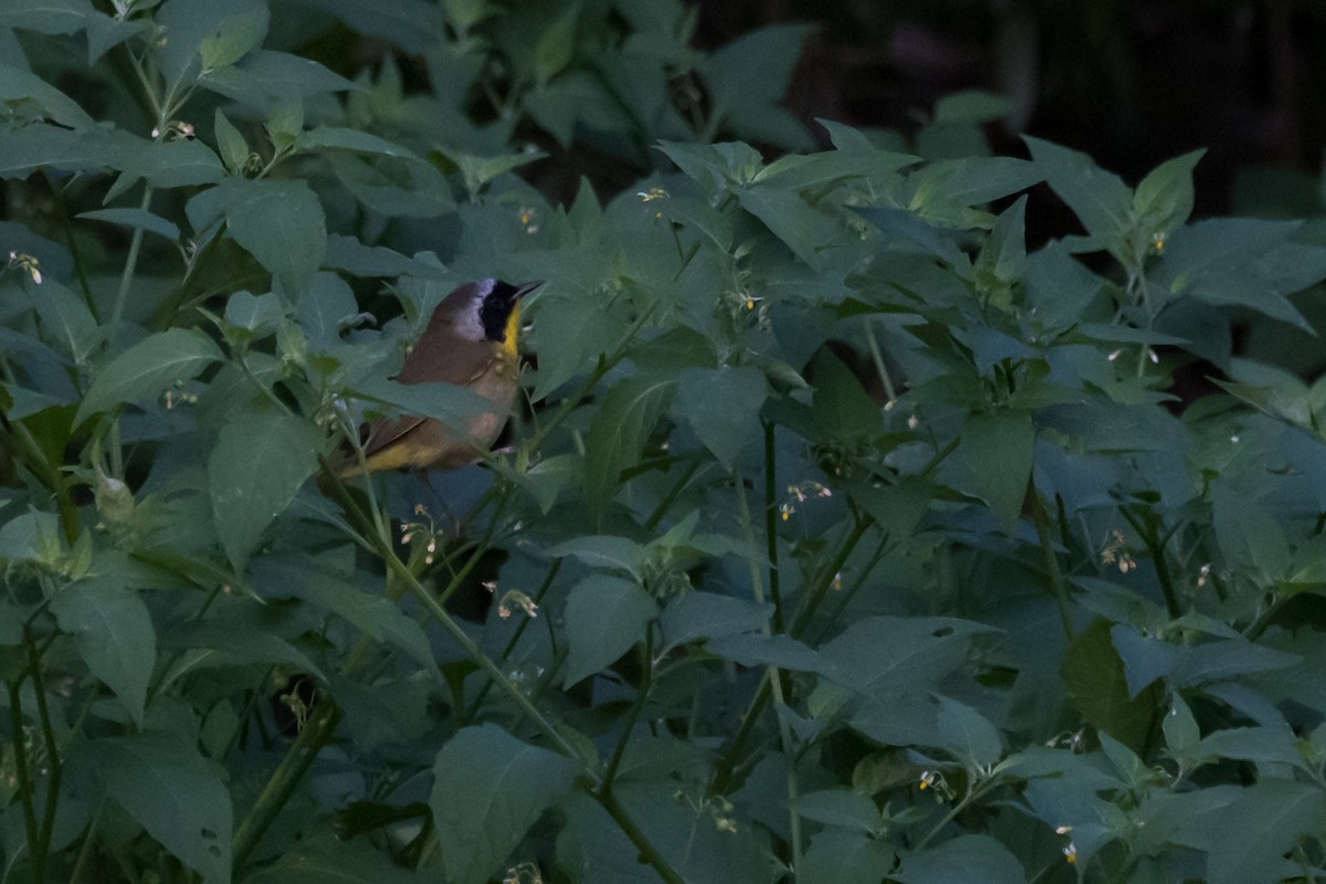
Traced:
[[[1323, 873], [1326, 395], [1233, 339], [1326, 231], [984, 95], [805, 152], [692, 27], [0, 8], [0, 883]], [[509, 445], [332, 478], [485, 276]]]

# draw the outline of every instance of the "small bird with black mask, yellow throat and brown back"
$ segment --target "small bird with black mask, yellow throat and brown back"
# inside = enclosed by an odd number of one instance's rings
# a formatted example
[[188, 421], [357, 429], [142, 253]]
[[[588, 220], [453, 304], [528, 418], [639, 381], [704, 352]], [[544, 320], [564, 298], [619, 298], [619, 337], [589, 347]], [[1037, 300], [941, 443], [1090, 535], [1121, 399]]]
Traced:
[[[431, 417], [404, 415], [379, 421], [370, 428], [363, 447], [370, 472], [400, 467], [455, 469], [488, 451], [507, 424], [507, 410], [518, 387], [520, 300], [540, 285], [481, 280], [443, 298], [396, 382], [456, 384], [492, 400], [496, 410], [468, 417], [464, 432]], [[355, 459], [337, 474], [346, 478], [362, 469]]]

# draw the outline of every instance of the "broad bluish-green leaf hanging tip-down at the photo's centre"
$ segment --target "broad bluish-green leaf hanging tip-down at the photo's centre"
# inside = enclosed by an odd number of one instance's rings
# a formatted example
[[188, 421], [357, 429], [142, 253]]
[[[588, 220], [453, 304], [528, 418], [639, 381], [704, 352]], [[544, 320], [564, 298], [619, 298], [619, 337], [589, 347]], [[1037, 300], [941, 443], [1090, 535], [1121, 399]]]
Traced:
[[758, 368], [687, 368], [678, 380], [674, 408], [731, 469], [741, 449], [760, 437], [760, 408], [768, 390]]

